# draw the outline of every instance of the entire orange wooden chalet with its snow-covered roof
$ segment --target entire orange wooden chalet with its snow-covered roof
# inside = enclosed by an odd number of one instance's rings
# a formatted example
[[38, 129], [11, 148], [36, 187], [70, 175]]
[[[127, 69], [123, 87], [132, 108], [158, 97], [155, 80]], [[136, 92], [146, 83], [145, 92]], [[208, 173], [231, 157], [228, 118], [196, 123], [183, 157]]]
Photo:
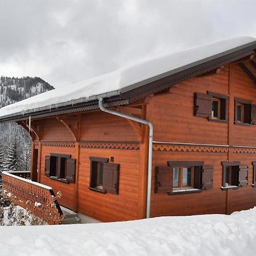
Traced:
[[[60, 205], [87, 221], [249, 209], [256, 205], [255, 49], [253, 38], [189, 49], [157, 60], [156, 69], [171, 65], [154, 76], [122, 85], [154, 61], [141, 64], [122, 71], [117, 88], [104, 91], [101, 77], [100, 92], [85, 97], [56, 103], [49, 98], [57, 90], [45, 100], [40, 94], [1, 109], [0, 121], [30, 130], [31, 179], [61, 191]], [[96, 81], [79, 88], [88, 93]]]

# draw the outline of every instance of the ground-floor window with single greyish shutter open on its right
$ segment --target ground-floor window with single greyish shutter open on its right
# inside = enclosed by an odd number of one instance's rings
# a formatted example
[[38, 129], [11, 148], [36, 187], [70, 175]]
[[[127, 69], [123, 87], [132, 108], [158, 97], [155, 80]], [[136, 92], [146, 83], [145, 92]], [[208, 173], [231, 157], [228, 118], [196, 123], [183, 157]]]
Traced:
[[241, 166], [240, 162], [222, 162], [222, 188], [245, 187], [248, 184], [248, 167]]

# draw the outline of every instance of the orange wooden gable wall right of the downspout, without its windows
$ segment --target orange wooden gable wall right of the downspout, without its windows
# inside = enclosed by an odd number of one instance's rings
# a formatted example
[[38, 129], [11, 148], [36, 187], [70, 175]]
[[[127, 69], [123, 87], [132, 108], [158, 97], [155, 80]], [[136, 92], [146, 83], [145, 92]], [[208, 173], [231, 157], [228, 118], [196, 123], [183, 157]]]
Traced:
[[[194, 93], [207, 90], [230, 94], [229, 122], [209, 122], [206, 118], [195, 117]], [[234, 97], [255, 100], [256, 86], [237, 64], [227, 65], [220, 74], [197, 77], [171, 89], [170, 94], [152, 97], [147, 106], [147, 118], [154, 125], [154, 141], [172, 143], [198, 143], [229, 146], [256, 147], [256, 126], [234, 124]], [[174, 146], [167, 150], [158, 147], [153, 152], [151, 216], [176, 216], [206, 213], [232, 213], [256, 205], [256, 189], [253, 181], [252, 161], [256, 150], [241, 152], [226, 147]], [[182, 150], [181, 150], [182, 148]], [[222, 191], [222, 161], [240, 161], [249, 166], [249, 185], [236, 190]], [[154, 193], [155, 166], [167, 161], [204, 161], [214, 166], [213, 189], [201, 193], [168, 195]]]

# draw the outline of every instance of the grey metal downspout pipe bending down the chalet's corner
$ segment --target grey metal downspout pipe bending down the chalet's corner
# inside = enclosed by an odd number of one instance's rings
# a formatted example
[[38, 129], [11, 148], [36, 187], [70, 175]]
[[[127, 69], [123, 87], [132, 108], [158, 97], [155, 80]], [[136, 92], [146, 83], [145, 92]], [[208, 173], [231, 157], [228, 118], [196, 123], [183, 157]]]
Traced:
[[121, 112], [117, 112], [115, 110], [111, 110], [104, 107], [103, 104], [104, 98], [98, 97], [98, 106], [103, 112], [117, 115], [118, 117], [130, 119], [132, 121], [142, 123], [143, 125], [147, 125], [149, 128], [149, 137], [148, 137], [148, 166], [147, 166], [147, 211], [146, 218], [150, 218], [150, 203], [151, 203], [151, 179], [152, 179], [152, 148], [153, 148], [153, 125], [150, 121], [145, 119], [141, 119], [138, 117], [132, 117], [131, 115], [123, 114]]

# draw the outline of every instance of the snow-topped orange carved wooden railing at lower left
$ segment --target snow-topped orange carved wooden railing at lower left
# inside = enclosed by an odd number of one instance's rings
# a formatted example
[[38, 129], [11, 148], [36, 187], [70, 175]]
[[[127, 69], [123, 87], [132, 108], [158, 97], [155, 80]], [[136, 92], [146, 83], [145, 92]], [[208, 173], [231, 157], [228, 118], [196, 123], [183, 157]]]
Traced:
[[60, 205], [47, 185], [2, 172], [2, 194], [49, 225], [60, 224], [63, 220]]

